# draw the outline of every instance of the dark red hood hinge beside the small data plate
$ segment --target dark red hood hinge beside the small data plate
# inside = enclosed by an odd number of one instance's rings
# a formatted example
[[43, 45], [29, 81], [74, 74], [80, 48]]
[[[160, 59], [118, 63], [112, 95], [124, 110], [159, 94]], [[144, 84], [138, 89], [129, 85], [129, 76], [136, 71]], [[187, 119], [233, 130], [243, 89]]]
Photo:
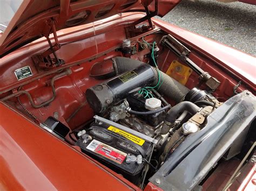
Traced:
[[[31, 57], [33, 62], [35, 63], [35, 66], [38, 72], [40, 72], [41, 70], [47, 70], [47, 69], [59, 67], [64, 65], [65, 63], [64, 60], [59, 59], [56, 54], [56, 51], [60, 49], [60, 44], [57, 37], [55, 22], [56, 20], [53, 18], [46, 21], [46, 25], [49, 26], [48, 27], [49, 31], [44, 33], [44, 37], [47, 39], [50, 48], [48, 48], [46, 51], [44, 51], [41, 54], [36, 54]], [[53, 37], [55, 40], [54, 45], [52, 45], [51, 39], [49, 38], [51, 33], [53, 34]], [[50, 56], [51, 54], [53, 54], [53, 58], [51, 58]]]

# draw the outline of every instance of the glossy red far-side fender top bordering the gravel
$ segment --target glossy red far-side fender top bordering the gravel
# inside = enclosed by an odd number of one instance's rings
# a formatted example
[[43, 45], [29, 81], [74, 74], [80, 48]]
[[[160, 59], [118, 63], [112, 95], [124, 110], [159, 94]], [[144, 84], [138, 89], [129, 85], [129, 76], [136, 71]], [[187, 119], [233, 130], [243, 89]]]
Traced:
[[254, 56], [159, 19], [153, 20], [161, 29], [190, 44], [198, 52], [232, 72], [256, 91], [256, 58]]

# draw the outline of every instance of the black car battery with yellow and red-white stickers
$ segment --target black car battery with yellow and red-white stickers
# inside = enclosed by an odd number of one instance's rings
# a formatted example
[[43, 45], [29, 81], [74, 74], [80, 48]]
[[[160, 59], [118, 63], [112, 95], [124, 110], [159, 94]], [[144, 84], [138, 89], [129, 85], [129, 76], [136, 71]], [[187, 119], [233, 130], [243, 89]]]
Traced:
[[91, 124], [86, 133], [80, 135], [76, 145], [90, 157], [124, 176], [139, 174], [145, 165], [144, 161], [130, 161], [127, 158], [132, 155], [133, 159], [148, 159], [152, 151], [151, 143], [102, 122]]

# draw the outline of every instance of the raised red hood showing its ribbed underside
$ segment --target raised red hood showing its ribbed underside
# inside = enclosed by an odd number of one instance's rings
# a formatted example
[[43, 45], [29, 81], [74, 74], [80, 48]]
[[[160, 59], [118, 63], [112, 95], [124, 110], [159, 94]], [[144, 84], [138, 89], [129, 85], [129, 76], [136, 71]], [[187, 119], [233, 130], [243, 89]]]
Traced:
[[0, 36], [0, 58], [43, 36], [128, 11], [163, 17], [179, 0], [24, 0]]

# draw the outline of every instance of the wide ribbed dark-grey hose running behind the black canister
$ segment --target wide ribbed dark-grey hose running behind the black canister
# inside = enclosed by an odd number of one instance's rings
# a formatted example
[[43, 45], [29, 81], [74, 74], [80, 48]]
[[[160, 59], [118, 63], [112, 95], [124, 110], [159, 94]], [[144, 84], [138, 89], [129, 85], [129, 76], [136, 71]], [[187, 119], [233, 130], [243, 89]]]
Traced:
[[[132, 70], [142, 65], [142, 63], [144, 62], [133, 60], [130, 58], [119, 57], [119, 56], [113, 59], [113, 67], [114, 67], [114, 70], [116, 71], [116, 75]], [[154, 75], [156, 79], [153, 82], [152, 86], [156, 86], [156, 84], [158, 83], [159, 75], [158, 75], [157, 69], [154, 67], [152, 68], [154, 70]], [[183, 101], [185, 95], [188, 93], [188, 91], [190, 91], [190, 89], [186, 88], [185, 86], [183, 86], [183, 84], [174, 80], [169, 75], [161, 71], [160, 73], [161, 73], [160, 78], [161, 76], [163, 76], [163, 83], [159, 88], [159, 92], [164, 94], [167, 97], [170, 97], [172, 100], [176, 101], [177, 103]]]

